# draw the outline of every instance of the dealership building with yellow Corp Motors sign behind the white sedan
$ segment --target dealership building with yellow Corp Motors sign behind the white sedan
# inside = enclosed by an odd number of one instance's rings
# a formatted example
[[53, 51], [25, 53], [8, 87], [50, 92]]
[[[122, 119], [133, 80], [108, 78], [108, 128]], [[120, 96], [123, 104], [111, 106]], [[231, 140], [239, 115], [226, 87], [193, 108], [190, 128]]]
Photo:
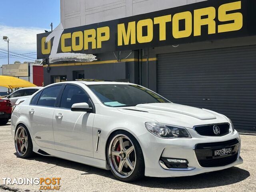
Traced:
[[[60, 0], [60, 7], [59, 41], [58, 30], [50, 42], [49, 33], [37, 36], [44, 85], [132, 82], [256, 131], [254, 0]], [[58, 61], [50, 62], [54, 44]], [[72, 61], [66, 52], [97, 60]]]

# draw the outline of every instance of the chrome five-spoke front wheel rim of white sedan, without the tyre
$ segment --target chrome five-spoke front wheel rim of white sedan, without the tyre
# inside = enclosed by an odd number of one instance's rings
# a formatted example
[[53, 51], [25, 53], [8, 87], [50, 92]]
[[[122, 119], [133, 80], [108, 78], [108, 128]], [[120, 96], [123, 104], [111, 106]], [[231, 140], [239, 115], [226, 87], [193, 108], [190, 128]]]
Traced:
[[123, 134], [116, 135], [110, 142], [108, 158], [117, 176], [120, 178], [130, 176], [136, 165], [136, 153], [132, 141]]

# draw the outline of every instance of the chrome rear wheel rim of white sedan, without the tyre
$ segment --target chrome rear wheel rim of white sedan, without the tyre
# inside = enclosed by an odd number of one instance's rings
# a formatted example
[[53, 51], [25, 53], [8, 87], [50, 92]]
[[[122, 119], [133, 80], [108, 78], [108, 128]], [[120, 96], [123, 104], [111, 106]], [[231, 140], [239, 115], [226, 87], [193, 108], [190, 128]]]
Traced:
[[28, 149], [28, 134], [26, 129], [20, 126], [15, 134], [15, 148], [20, 156], [24, 156]]

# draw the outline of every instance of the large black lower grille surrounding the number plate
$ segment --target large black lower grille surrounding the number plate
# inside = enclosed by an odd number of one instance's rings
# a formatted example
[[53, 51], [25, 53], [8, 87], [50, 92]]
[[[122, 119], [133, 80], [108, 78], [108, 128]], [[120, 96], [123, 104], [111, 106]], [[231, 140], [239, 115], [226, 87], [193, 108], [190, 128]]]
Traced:
[[[232, 152], [223, 156], [214, 156], [215, 150], [231, 148]], [[201, 143], [196, 144], [196, 158], [202, 167], [220, 167], [232, 164], [238, 159], [240, 142], [238, 139], [233, 139], [224, 142]]]

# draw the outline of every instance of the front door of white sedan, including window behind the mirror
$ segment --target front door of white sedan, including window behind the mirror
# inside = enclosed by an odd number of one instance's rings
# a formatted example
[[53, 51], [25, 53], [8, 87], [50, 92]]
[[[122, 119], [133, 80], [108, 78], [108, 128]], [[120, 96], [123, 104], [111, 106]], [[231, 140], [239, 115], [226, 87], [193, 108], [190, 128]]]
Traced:
[[59, 108], [54, 110], [53, 132], [55, 149], [78, 154], [93, 156], [92, 128], [94, 112], [71, 111], [72, 104], [86, 102], [93, 104], [84, 89], [79, 86], [66, 84]]

